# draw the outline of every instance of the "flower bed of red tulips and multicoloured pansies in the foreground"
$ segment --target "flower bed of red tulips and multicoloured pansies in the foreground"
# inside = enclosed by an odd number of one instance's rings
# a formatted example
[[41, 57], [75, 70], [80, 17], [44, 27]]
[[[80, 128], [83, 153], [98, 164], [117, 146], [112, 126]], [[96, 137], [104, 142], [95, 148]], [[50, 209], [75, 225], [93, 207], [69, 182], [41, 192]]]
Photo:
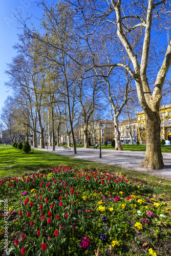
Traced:
[[0, 191], [1, 227], [9, 203], [7, 255], [169, 255], [171, 211], [142, 182], [56, 167], [3, 180]]

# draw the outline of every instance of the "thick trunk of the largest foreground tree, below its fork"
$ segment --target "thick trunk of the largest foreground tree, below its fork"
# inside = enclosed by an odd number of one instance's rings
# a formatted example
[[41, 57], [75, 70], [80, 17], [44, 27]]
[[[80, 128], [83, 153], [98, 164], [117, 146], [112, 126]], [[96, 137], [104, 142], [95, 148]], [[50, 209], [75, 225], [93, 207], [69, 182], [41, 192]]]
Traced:
[[162, 169], [164, 167], [160, 144], [160, 116], [155, 114], [146, 118], [146, 152], [140, 163], [144, 168]]

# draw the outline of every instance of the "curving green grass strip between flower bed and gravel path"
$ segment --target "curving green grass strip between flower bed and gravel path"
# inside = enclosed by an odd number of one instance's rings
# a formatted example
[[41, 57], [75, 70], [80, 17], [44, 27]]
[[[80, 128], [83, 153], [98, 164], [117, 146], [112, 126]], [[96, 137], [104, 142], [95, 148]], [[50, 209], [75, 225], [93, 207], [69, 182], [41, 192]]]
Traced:
[[14, 147], [0, 148], [0, 178], [15, 177], [31, 173], [38, 170], [51, 169], [56, 166], [71, 166], [77, 170], [89, 169], [113, 174], [123, 175], [127, 179], [143, 181], [149, 193], [163, 194], [165, 198], [171, 200], [171, 181], [139, 173], [135, 170], [91, 162], [83, 159], [76, 159], [68, 156], [61, 156], [49, 152], [32, 150], [30, 154], [24, 154]]

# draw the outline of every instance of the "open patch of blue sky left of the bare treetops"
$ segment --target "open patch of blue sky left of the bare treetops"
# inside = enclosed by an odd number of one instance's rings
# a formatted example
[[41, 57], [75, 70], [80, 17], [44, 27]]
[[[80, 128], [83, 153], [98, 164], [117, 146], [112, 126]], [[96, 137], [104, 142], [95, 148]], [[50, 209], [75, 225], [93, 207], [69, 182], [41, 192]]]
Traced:
[[[35, 0], [1, 0], [0, 3], [0, 111], [7, 96], [12, 95], [12, 91], [4, 85], [4, 82], [8, 81], [8, 76], [4, 73], [7, 70], [6, 63], [11, 63], [12, 57], [16, 55], [16, 50], [12, 47], [18, 41], [17, 34], [22, 33], [22, 30], [18, 29], [19, 24], [13, 13], [17, 13], [18, 9], [22, 12], [23, 18], [31, 14], [40, 18], [42, 9], [36, 2]], [[35, 24], [39, 24], [38, 19], [33, 17], [32, 20]]]

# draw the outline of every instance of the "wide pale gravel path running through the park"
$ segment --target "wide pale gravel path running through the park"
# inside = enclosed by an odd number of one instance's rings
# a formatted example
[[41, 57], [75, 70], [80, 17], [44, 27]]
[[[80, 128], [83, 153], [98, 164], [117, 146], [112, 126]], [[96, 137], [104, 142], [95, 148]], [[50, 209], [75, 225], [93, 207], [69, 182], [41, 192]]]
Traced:
[[[38, 148], [35, 149], [38, 150]], [[77, 154], [73, 153], [73, 148], [71, 148], [71, 152], [64, 151], [63, 147], [55, 147], [55, 151], [52, 151], [52, 146], [48, 147], [48, 150], [47, 148], [44, 148], [41, 151], [89, 160], [92, 162], [115, 165], [126, 169], [133, 169], [137, 172], [146, 173], [171, 181], [171, 154], [169, 153], [162, 154], [165, 168], [162, 170], [150, 170], [139, 166], [145, 156], [145, 152], [101, 150], [102, 158], [99, 158], [99, 149], [93, 150], [93, 148], [77, 147]]]

